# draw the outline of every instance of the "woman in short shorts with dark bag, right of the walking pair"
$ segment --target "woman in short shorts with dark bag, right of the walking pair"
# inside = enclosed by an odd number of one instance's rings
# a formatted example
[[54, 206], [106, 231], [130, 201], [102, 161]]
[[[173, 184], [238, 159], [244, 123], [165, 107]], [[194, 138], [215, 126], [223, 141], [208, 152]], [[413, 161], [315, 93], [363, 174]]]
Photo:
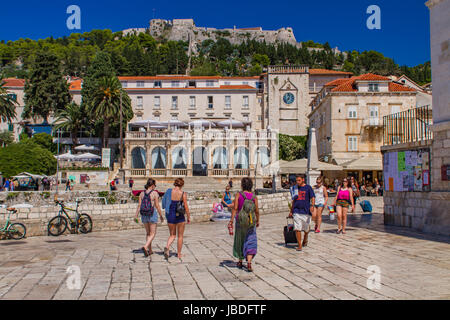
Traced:
[[182, 178], [178, 178], [175, 180], [173, 185], [175, 188], [168, 189], [163, 197], [163, 208], [166, 210], [167, 224], [170, 232], [167, 245], [164, 248], [164, 257], [166, 260], [169, 259], [170, 246], [175, 241], [177, 234], [177, 256], [178, 259], [181, 259], [181, 249], [183, 248], [183, 235], [186, 225], [186, 218], [188, 224], [191, 222], [191, 214], [189, 212], [187, 196], [181, 190], [184, 186], [184, 180]]

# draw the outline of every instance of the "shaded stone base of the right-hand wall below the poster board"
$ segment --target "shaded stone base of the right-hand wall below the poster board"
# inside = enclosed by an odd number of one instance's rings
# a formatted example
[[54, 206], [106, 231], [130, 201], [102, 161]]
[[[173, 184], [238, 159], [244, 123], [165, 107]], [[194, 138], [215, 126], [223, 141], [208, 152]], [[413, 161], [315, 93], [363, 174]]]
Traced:
[[386, 192], [384, 223], [450, 236], [450, 192]]

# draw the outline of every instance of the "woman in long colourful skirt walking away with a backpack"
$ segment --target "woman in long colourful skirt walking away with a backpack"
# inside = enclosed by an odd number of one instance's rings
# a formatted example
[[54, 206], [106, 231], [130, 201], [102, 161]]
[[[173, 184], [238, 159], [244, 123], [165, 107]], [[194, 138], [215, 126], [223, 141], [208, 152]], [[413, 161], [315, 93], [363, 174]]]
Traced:
[[257, 252], [256, 228], [259, 227], [258, 199], [252, 193], [253, 182], [250, 178], [241, 180], [242, 192], [236, 194], [233, 202], [233, 211], [228, 223], [230, 229], [233, 228], [233, 221], [236, 222], [233, 256], [239, 259], [237, 267], [242, 269], [242, 260], [247, 260], [247, 270], [252, 272], [252, 259]]

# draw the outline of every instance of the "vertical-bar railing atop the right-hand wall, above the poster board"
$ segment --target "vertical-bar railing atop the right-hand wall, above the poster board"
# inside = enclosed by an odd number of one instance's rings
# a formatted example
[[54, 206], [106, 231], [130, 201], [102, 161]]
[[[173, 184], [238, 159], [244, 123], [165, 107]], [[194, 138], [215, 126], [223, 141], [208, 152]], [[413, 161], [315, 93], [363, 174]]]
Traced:
[[394, 145], [433, 139], [430, 106], [418, 107], [383, 117], [383, 144]]

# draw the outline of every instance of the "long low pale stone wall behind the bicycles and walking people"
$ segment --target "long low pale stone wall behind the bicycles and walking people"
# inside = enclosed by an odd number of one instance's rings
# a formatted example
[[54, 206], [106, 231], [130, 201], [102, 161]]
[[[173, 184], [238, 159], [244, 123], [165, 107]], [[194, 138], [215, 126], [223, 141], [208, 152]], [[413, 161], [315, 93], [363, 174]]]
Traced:
[[[260, 214], [269, 213], [288, 213], [289, 193], [276, 193], [258, 196]], [[219, 202], [220, 199], [195, 199], [189, 201], [191, 212], [191, 221], [206, 222], [211, 217], [213, 202]], [[93, 221], [93, 231], [113, 231], [142, 228], [142, 224], [136, 224], [134, 217], [136, 214], [136, 203], [98, 205], [83, 204], [80, 205], [80, 212], [88, 213]], [[27, 227], [27, 236], [47, 235], [48, 221], [57, 215], [59, 207], [42, 206], [34, 208], [20, 208], [17, 215], [11, 218], [14, 222], [22, 222]], [[4, 224], [6, 209], [0, 209], [0, 224]], [[166, 224], [166, 222], [164, 222]], [[66, 231], [68, 232], [68, 231]]]

